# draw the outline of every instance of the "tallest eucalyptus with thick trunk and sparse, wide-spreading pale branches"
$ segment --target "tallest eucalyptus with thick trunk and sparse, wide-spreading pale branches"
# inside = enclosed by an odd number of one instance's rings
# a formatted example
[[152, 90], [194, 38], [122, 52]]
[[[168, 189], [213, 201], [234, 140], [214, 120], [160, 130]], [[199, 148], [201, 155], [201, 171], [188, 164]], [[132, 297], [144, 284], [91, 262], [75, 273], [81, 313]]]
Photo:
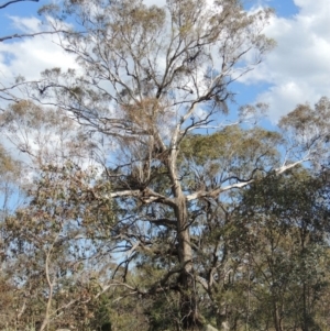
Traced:
[[[176, 290], [184, 329], [201, 327], [197, 288], [211, 294], [224, 251], [216, 239], [204, 252], [213, 254], [206, 267], [198, 243], [226, 220], [231, 191], [310, 159], [324, 142], [324, 126], [316, 140], [302, 133], [304, 141], [288, 145], [280, 159], [279, 135], [235, 125], [223, 130], [232, 84], [274, 46], [263, 34], [272, 11], [246, 12], [238, 0], [168, 0], [163, 7], [81, 0], [41, 12], [52, 18], [54, 31], [75, 22], [59, 44], [80, 67], [44, 71], [29, 93], [66, 111], [109, 147], [107, 198], [118, 206], [111, 252], [121, 253], [113, 279], [141, 296]], [[237, 124], [257, 108], [263, 106], [242, 108]], [[300, 129], [290, 120], [283, 125]], [[207, 131], [213, 134], [196, 135]], [[190, 153], [189, 144], [196, 144]], [[148, 260], [160, 269], [157, 279], [144, 287], [127, 284], [131, 263]]]

